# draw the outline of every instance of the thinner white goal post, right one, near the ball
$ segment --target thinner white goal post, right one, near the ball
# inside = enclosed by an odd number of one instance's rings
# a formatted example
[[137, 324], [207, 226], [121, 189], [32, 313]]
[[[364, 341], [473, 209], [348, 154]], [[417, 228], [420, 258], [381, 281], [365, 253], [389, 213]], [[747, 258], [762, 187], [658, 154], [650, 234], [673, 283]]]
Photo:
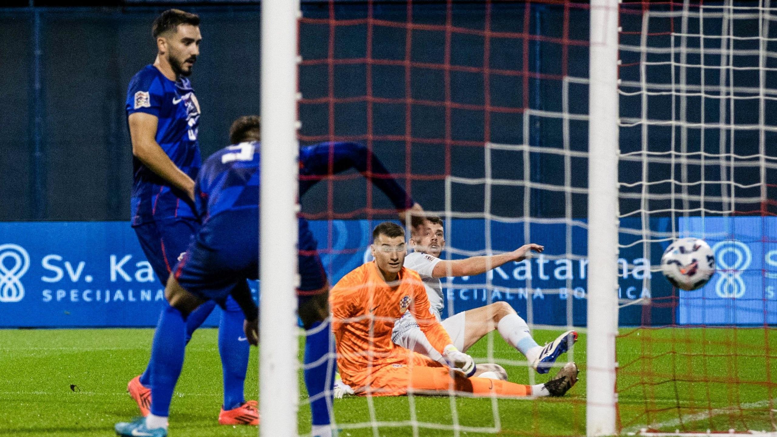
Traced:
[[618, 335], [618, 0], [591, 0], [588, 86], [589, 436], [615, 435]]

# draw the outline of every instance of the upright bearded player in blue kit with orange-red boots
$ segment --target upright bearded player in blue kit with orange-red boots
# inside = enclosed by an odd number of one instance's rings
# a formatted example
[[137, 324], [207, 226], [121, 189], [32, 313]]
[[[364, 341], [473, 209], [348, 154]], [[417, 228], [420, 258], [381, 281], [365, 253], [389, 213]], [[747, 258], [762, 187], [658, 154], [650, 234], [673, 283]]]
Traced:
[[[193, 205], [194, 179], [200, 169], [197, 128], [200, 106], [186, 76], [199, 55], [200, 19], [177, 9], [169, 9], [155, 20], [153, 36], [159, 53], [153, 65], [134, 75], [127, 89], [127, 121], [134, 155], [132, 187], [132, 226], [148, 261], [163, 284], [191, 237], [200, 229]], [[187, 321], [186, 340], [214, 308], [207, 302]], [[243, 397], [249, 344], [242, 338], [243, 316], [239, 306], [228, 299], [219, 324], [219, 351], [224, 375], [224, 404], [218, 421], [222, 425], [257, 425], [256, 401]], [[155, 334], [168, 335], [162, 327]], [[166, 417], [167, 411], [152, 404], [151, 387], [164, 374], [155, 354], [141, 376], [131, 379], [127, 390], [138, 403], [141, 414], [153, 414], [152, 421]], [[168, 401], [161, 400], [162, 405]]]

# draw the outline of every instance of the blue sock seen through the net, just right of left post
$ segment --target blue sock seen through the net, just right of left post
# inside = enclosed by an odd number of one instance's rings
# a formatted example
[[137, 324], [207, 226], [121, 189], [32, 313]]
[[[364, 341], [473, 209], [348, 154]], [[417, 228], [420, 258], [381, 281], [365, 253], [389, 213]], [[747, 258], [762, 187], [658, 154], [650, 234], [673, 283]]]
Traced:
[[325, 390], [326, 396], [319, 397], [310, 403], [313, 425], [329, 425], [329, 407], [332, 405], [332, 389], [335, 381], [334, 355], [321, 364], [307, 369], [307, 365], [317, 362], [321, 357], [334, 352], [334, 338], [329, 322], [315, 322], [309, 330], [317, 330], [315, 334], [308, 334], [305, 338], [305, 386], [308, 387], [308, 396], [315, 397]]

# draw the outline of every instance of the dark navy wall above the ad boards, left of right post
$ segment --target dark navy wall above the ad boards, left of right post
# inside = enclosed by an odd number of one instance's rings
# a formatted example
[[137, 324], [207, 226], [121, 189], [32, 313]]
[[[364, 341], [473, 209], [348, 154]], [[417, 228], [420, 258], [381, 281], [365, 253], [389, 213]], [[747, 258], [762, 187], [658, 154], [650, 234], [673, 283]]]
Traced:
[[[171, 6], [196, 12], [202, 18], [203, 43], [200, 58], [191, 76], [197, 98], [203, 110], [200, 118], [200, 147], [205, 157], [228, 143], [229, 124], [242, 114], [257, 114], [260, 108], [260, 5], [181, 5], [126, 2], [123, 5], [61, 7], [62, 2], [36, 2], [34, 8], [26, 2], [20, 7], [0, 8], [0, 220], [127, 220], [132, 180], [132, 158], [124, 114], [127, 82], [142, 66], [155, 57], [155, 44], [150, 26], [155, 16]], [[338, 17], [345, 14], [365, 16], [363, 3], [343, 2]], [[83, 4], [81, 2], [80, 4]], [[5, 5], [9, 5], [8, 2]], [[54, 6], [57, 5], [57, 6]], [[323, 2], [302, 2], [305, 16], [325, 18]], [[493, 28], [521, 31], [524, 5], [493, 5]], [[556, 34], [562, 23], [561, 9], [532, 5], [532, 32]], [[405, 5], [375, 2], [375, 16], [404, 21]], [[583, 23], [573, 23], [570, 31], [578, 38], [587, 37], [587, 16]], [[444, 5], [439, 2], [419, 2], [413, 10], [419, 23], [444, 23]], [[482, 27], [483, 5], [455, 2], [454, 20], [458, 26]], [[339, 27], [336, 33], [336, 57], [364, 56], [365, 26]], [[383, 34], [382, 34], [383, 33]], [[303, 58], [326, 57], [329, 29], [327, 26], [303, 26], [301, 54]], [[341, 39], [342, 38], [342, 39]], [[386, 38], [387, 44], [378, 44]], [[404, 30], [377, 29], [374, 56], [404, 57]], [[416, 32], [413, 38], [413, 61], [441, 62], [442, 33]], [[559, 73], [559, 44], [529, 43], [530, 69]], [[514, 40], [493, 41], [493, 68], [520, 70], [523, 44]], [[36, 55], [36, 52], [40, 55]], [[483, 62], [483, 38], [455, 35], [451, 41], [452, 63], [479, 66]], [[364, 65], [335, 66], [336, 96], [364, 95]], [[570, 47], [570, 75], [587, 75], [587, 47]], [[375, 66], [373, 87], [375, 96], [404, 97], [402, 67]], [[501, 80], [503, 83], [497, 82]], [[492, 88], [512, 89], [514, 93], [495, 93], [499, 104], [522, 107], [520, 78], [493, 79]], [[40, 83], [40, 87], [37, 87]], [[557, 83], [543, 84], [531, 79], [528, 98], [531, 107], [560, 110]], [[441, 100], [442, 72], [413, 68], [413, 96]], [[326, 96], [326, 66], [301, 68], [300, 86], [303, 96]], [[467, 103], [483, 102], [482, 75], [451, 72], [453, 98]], [[582, 87], [581, 87], [582, 88]], [[580, 96], [576, 103], [587, 99]], [[582, 112], [586, 108], [577, 108]], [[336, 134], [364, 134], [364, 103], [336, 105]], [[301, 108], [303, 135], [327, 133], [326, 104]], [[503, 117], [503, 118], [498, 118]], [[397, 105], [375, 104], [376, 133], [401, 135], [405, 114]], [[441, 138], [444, 118], [441, 108], [413, 107], [413, 136]], [[454, 139], [482, 139], [483, 112], [454, 110]], [[521, 143], [521, 114], [497, 114], [492, 123], [494, 142]], [[560, 130], [541, 120], [535, 129], [542, 135], [532, 135], [536, 142], [560, 145]], [[585, 149], [587, 133], [578, 126], [580, 149]], [[577, 149], [577, 147], [576, 147]], [[375, 151], [396, 173], [404, 173], [404, 142], [376, 142]], [[413, 145], [413, 168], [416, 174], [444, 173], [444, 146]], [[453, 173], [464, 177], [483, 176], [482, 147], [454, 147], [451, 150]], [[539, 158], [539, 156], [537, 156]], [[533, 179], [557, 180], [563, 167], [546, 165], [536, 159], [532, 166]], [[496, 161], [495, 177], [516, 177], [511, 160]], [[584, 183], [585, 175], [580, 178]], [[326, 209], [326, 187], [313, 191], [305, 198], [305, 210]], [[441, 181], [413, 183], [413, 195], [425, 208], [441, 210]], [[355, 192], [354, 192], [355, 190]], [[463, 203], [455, 208], [462, 211], [482, 211], [482, 187], [477, 192], [462, 193]], [[351, 211], [364, 207], [364, 182], [354, 180], [336, 185], [337, 210]], [[347, 194], [347, 195], [346, 195]], [[479, 195], [478, 195], [479, 194]], [[466, 201], [464, 201], [466, 199]], [[376, 196], [375, 207], [387, 205], [382, 194]], [[533, 198], [532, 215], [563, 215], [563, 205], [545, 203]], [[575, 208], [584, 215], [584, 201]], [[522, 202], [496, 202], [497, 215], [523, 215]]]

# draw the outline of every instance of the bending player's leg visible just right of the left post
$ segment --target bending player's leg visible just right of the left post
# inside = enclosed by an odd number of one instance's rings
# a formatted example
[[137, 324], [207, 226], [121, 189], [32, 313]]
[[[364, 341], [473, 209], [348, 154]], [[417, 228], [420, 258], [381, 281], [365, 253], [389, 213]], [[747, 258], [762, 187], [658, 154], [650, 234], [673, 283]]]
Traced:
[[[308, 222], [299, 220], [298, 314], [305, 327], [305, 386], [311, 399], [312, 435], [332, 435], [333, 384], [335, 378], [335, 347], [329, 326], [329, 282], [323, 264], [316, 253], [316, 242]], [[325, 358], [326, 357], [326, 358]], [[322, 359], [323, 358], [323, 359]], [[315, 363], [319, 363], [315, 365]]]

